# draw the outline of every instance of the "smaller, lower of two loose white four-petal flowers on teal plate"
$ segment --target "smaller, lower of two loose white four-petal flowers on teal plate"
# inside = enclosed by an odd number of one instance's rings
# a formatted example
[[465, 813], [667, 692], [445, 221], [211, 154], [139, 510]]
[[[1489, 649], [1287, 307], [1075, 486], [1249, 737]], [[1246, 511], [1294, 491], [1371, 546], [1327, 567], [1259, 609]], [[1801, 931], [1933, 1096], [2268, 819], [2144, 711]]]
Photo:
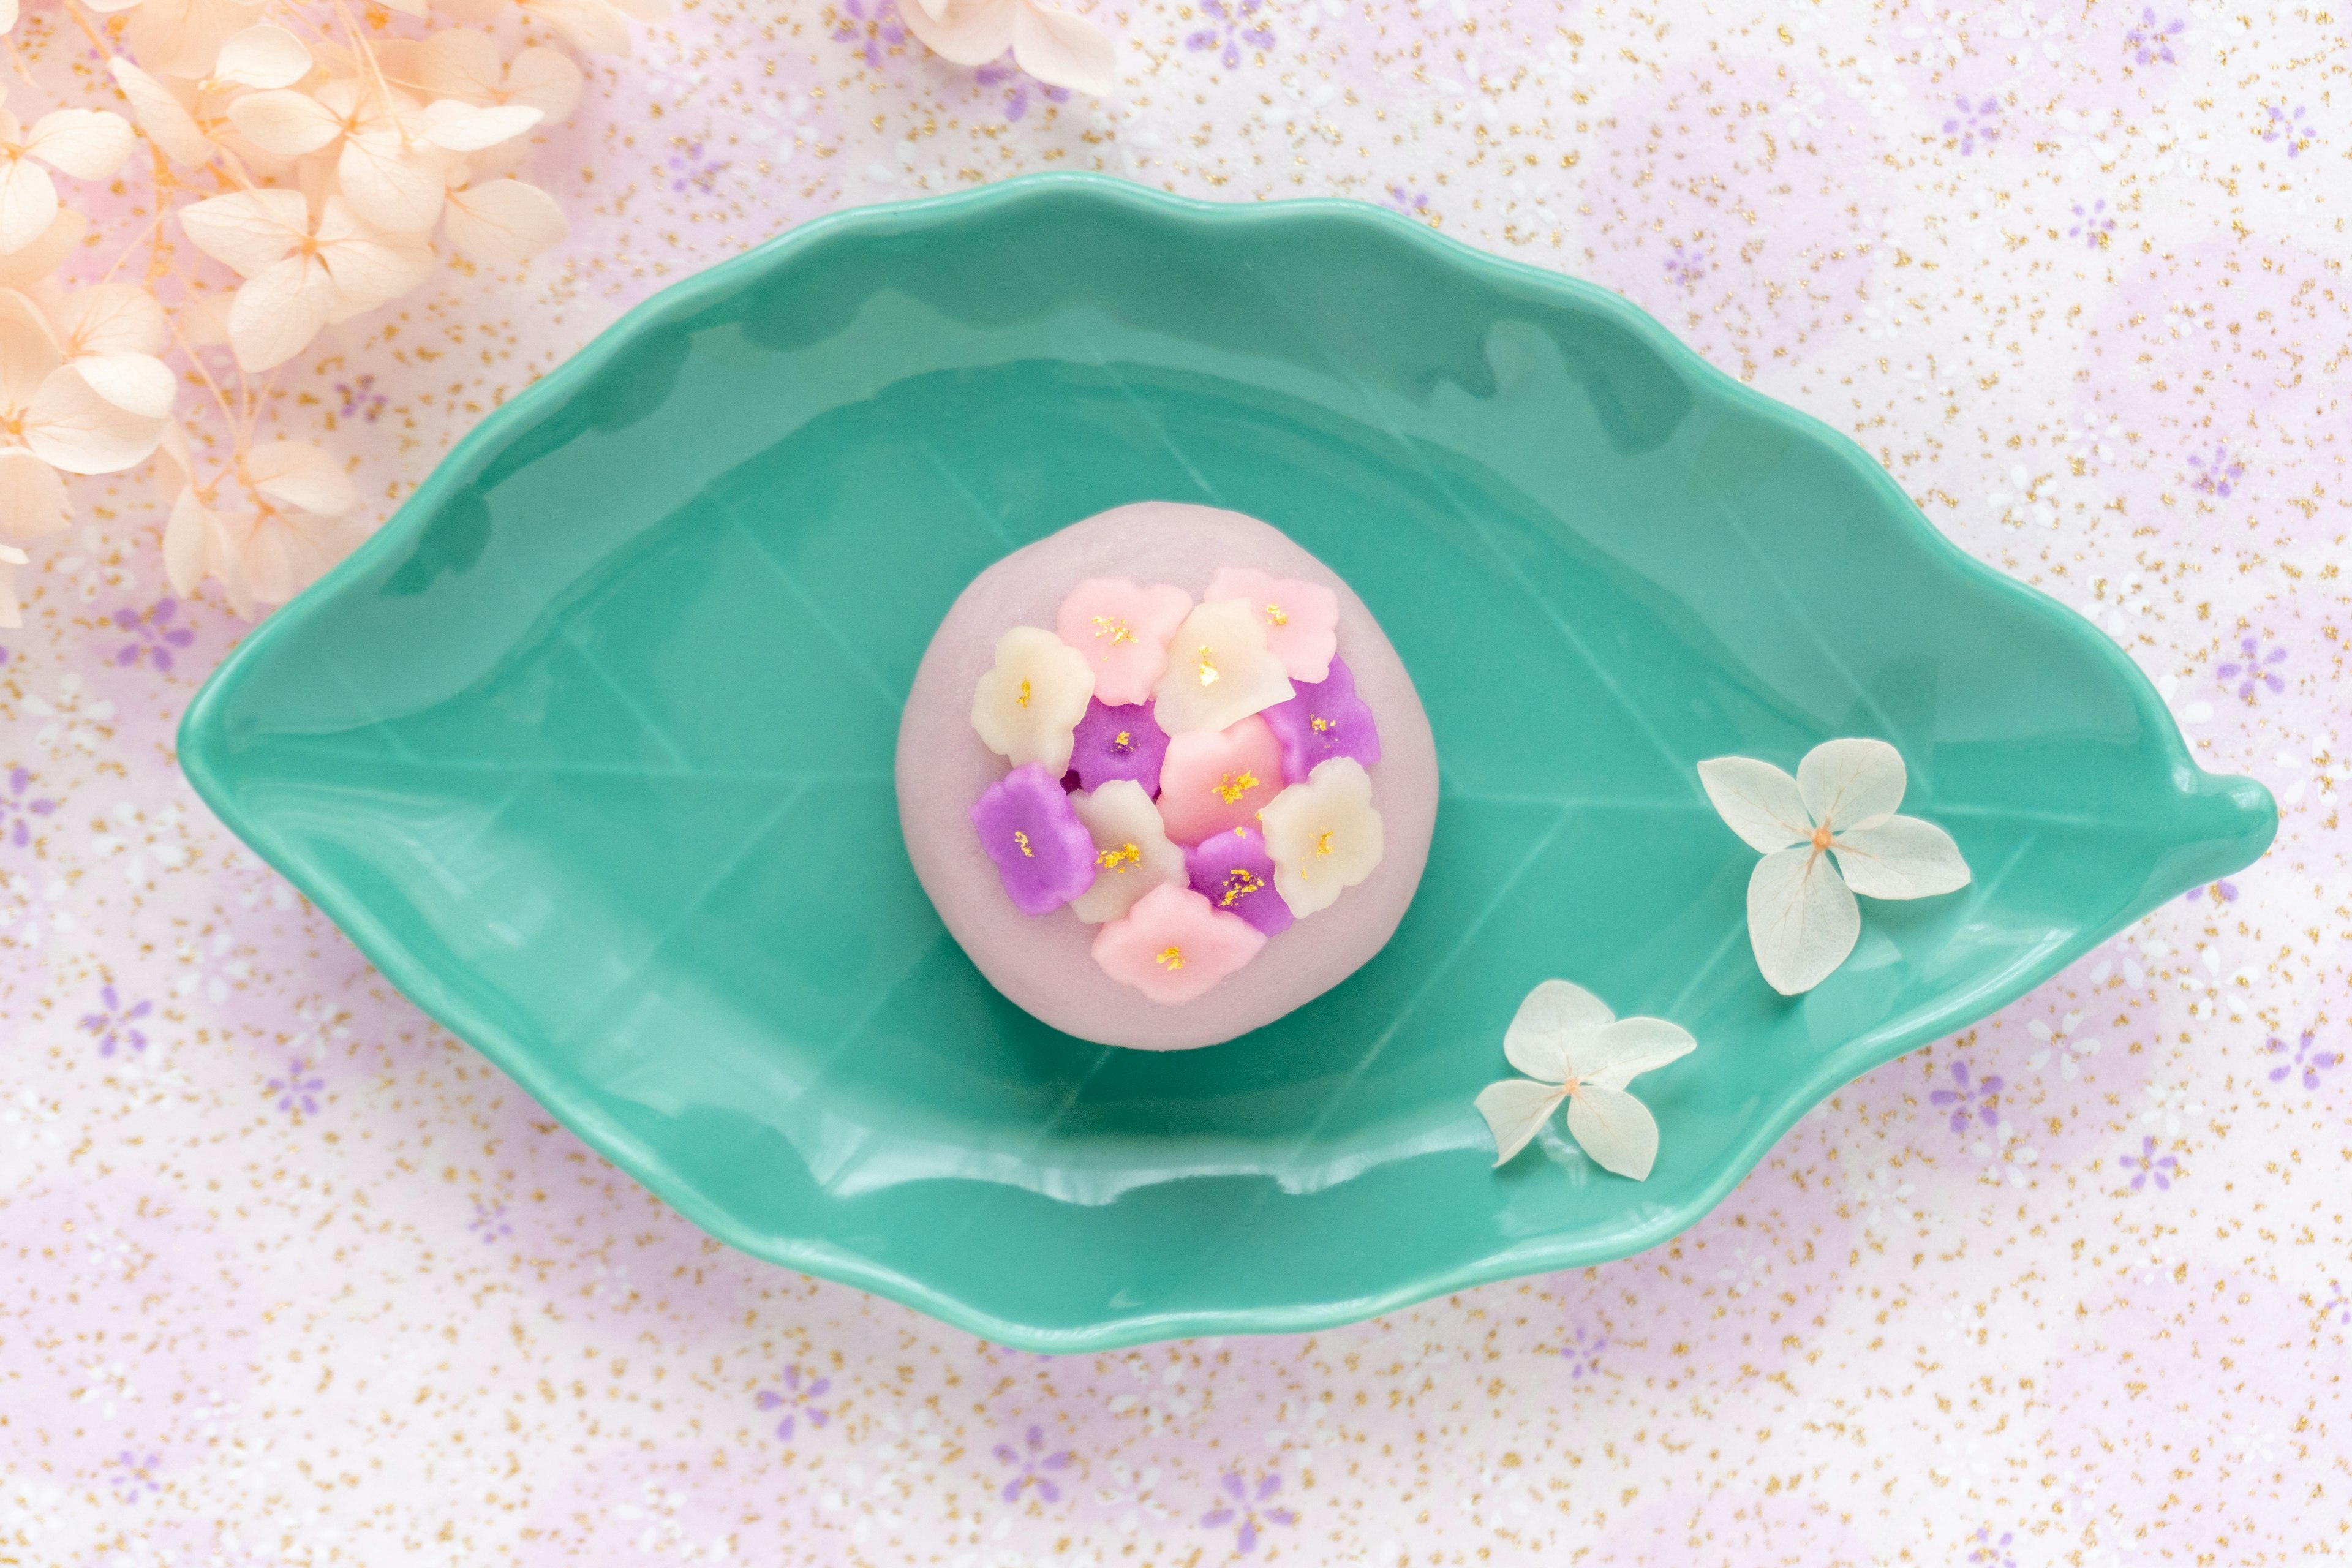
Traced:
[[1658, 1159], [1658, 1121], [1625, 1084], [1689, 1056], [1696, 1044], [1689, 1030], [1663, 1018], [1618, 1018], [1585, 987], [1545, 980], [1526, 992], [1503, 1034], [1503, 1056], [1529, 1077], [1489, 1084], [1477, 1095], [1494, 1128], [1494, 1164], [1524, 1150], [1566, 1100], [1569, 1135], [1592, 1164], [1644, 1180]]

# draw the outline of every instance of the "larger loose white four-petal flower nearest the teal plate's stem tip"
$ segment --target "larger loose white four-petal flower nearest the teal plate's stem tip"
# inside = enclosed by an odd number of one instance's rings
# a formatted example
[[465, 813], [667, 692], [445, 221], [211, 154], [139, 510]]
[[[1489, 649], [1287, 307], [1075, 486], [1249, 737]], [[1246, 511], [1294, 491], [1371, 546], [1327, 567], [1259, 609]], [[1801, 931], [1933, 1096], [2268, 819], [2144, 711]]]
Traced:
[[1731, 832], [1764, 851], [1748, 877], [1748, 940], [1783, 997], [1809, 992], [1863, 933], [1853, 893], [1929, 898], [1969, 884], [1952, 835], [1896, 816], [1907, 776], [1884, 741], [1823, 741], [1790, 778], [1755, 757], [1698, 764]]

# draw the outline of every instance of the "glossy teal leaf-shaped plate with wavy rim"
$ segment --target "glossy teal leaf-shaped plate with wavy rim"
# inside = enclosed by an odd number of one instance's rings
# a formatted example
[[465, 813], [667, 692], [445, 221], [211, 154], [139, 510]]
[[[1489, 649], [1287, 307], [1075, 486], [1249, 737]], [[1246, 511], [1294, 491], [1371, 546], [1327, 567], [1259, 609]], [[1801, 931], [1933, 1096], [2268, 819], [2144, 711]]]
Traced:
[[[1228, 1046], [1054, 1034], [898, 842], [948, 602], [1122, 501], [1265, 517], [1414, 670], [1444, 804], [1388, 950]], [[1976, 886], [1802, 999], [1698, 792], [1882, 736]], [[1091, 176], [847, 212], [482, 421], [181, 731], [383, 973], [708, 1232], [974, 1333], [1298, 1331], [1618, 1258], [1809, 1105], [2253, 860], [2086, 621], [1602, 289], [1371, 207]], [[1470, 1107], [1545, 976], [1686, 1025], [1649, 1182]]]

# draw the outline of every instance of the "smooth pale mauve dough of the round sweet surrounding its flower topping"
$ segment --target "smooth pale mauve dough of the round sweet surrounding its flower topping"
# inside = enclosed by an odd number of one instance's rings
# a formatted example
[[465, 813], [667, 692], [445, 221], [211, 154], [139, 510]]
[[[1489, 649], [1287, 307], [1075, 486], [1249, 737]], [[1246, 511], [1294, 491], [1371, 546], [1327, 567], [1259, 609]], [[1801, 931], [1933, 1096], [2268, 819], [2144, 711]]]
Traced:
[[[1251, 964], [1204, 997], [1167, 1006], [1103, 973], [1091, 954], [1101, 926], [1082, 924], [1068, 905], [1021, 914], [1004, 896], [971, 830], [971, 802], [1004, 778], [1007, 762], [971, 731], [971, 691], [995, 665], [1007, 628], [1051, 628], [1063, 597], [1087, 578], [1171, 583], [1200, 599], [1209, 578], [1228, 567], [1324, 583], [1338, 595], [1338, 656], [1381, 729], [1381, 759], [1367, 771], [1385, 849], [1374, 872], [1338, 903], [1268, 940]], [[1435, 823], [1430, 719], [1371, 611], [1338, 574], [1277, 529], [1207, 505], [1120, 505], [1000, 559], [938, 623], [898, 722], [898, 825], [938, 917], [1011, 1001], [1065, 1034], [1105, 1046], [1214, 1046], [1345, 980], [1404, 919]]]

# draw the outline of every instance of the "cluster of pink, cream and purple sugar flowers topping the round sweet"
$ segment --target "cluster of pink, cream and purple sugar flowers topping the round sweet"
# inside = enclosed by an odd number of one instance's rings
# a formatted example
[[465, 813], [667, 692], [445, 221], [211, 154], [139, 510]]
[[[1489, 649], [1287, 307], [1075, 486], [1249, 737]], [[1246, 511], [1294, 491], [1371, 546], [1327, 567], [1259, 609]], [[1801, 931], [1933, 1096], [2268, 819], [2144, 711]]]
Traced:
[[1070, 905], [1094, 961], [1192, 1001], [1329, 910], [1383, 856], [1381, 738], [1338, 658], [1338, 595], [1218, 571], [1089, 578], [1054, 630], [1016, 625], [971, 696], [1009, 773], [971, 806], [1023, 914]]

